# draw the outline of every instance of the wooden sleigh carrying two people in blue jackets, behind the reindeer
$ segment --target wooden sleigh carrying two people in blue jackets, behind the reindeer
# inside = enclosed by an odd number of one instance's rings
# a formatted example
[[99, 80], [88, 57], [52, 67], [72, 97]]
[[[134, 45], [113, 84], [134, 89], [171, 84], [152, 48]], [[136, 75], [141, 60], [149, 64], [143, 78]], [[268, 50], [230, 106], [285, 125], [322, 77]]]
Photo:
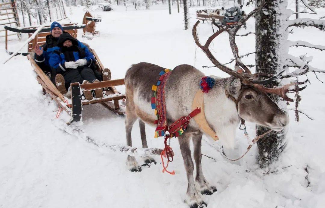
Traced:
[[[95, 50], [91, 49], [95, 56], [95, 64], [97, 65], [98, 71], [103, 72], [104, 66], [98, 58]], [[50, 78], [45, 75], [43, 70], [37, 65], [32, 55], [27, 55], [28, 60], [34, 71], [37, 74], [37, 81], [43, 87], [43, 92], [48, 93], [52, 99], [65, 110], [70, 116], [71, 120], [68, 122], [79, 121], [82, 116], [82, 106], [88, 104], [102, 104], [114, 113], [118, 115], [125, 114], [125, 109], [123, 105], [119, 104], [120, 100], [125, 98], [125, 95], [121, 94], [116, 90], [115, 86], [124, 85], [124, 79], [101, 81], [97, 83], [80, 84], [79, 82], [71, 83], [72, 98], [68, 99], [64, 97], [62, 93], [56, 88], [56, 86], [51, 82]], [[83, 100], [82, 94], [84, 90], [95, 90], [104, 89], [102, 98], [93, 98], [92, 100]]]

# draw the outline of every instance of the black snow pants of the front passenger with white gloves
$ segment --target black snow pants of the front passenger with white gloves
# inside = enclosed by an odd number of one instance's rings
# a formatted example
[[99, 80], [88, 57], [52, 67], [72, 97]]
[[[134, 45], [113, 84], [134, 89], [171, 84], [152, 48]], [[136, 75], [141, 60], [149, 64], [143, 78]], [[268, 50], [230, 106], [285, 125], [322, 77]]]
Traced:
[[91, 68], [84, 67], [83, 69], [70, 69], [63, 74], [65, 87], [68, 89], [71, 83], [79, 82], [82, 84], [84, 80], [92, 83], [96, 78], [94, 71]]

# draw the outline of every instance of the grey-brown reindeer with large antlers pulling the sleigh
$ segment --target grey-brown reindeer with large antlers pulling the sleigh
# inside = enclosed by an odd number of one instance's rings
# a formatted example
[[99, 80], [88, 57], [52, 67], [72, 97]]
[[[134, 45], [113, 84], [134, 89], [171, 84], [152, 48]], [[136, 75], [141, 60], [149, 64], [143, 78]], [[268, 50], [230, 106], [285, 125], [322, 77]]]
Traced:
[[[266, 126], [274, 131], [282, 130], [289, 119], [286, 113], [268, 97], [267, 93], [277, 94], [284, 100], [293, 101], [287, 97], [286, 93], [295, 84], [288, 84], [281, 88], [266, 88], [261, 84], [271, 83], [278, 78], [287, 78], [288, 75], [268, 76], [252, 74], [250, 70], [241, 62], [238, 55], [238, 48], [235, 43], [235, 35], [239, 27], [256, 11], [260, 10], [260, 5], [253, 12], [244, 17], [236, 25], [228, 25], [218, 30], [208, 38], [206, 44], [199, 43], [196, 27], [193, 27], [193, 37], [195, 43], [206, 53], [209, 59], [222, 71], [231, 75], [228, 78], [215, 78], [214, 87], [204, 94], [204, 113], [208, 125], [212, 128], [221, 142], [226, 146], [233, 145], [235, 130], [241, 119]], [[218, 62], [210, 50], [209, 44], [221, 32], [227, 31], [230, 37], [230, 45], [236, 59], [236, 64], [244, 69], [244, 73], [238, 73]], [[143, 148], [148, 148], [145, 132], [145, 123], [155, 126], [156, 115], [151, 109], [152, 85], [159, 79], [159, 73], [165, 68], [155, 64], [140, 62], [133, 64], [125, 75], [126, 88], [126, 141], [128, 146], [132, 146], [131, 130], [136, 119], [139, 120], [140, 135]], [[307, 69], [308, 70], [308, 69]], [[306, 72], [306, 71], [305, 71]], [[303, 72], [301, 72], [303, 73]], [[188, 115], [192, 111], [192, 103], [196, 92], [199, 90], [199, 82], [205, 76], [201, 71], [193, 66], [183, 64], [176, 66], [165, 86], [165, 104], [167, 111], [168, 125], [177, 119]], [[258, 80], [260, 76], [268, 76], [267, 79]], [[299, 83], [300, 84], [300, 83]], [[217, 189], [205, 178], [201, 166], [201, 139], [203, 131], [194, 119], [191, 119], [185, 134], [178, 137], [181, 154], [184, 159], [188, 188], [185, 202], [190, 207], [204, 207], [207, 204], [202, 201], [200, 194], [213, 194]], [[190, 139], [194, 146], [194, 160], [196, 164], [196, 177], [193, 178], [194, 165], [191, 159], [189, 147]], [[150, 157], [145, 158], [145, 163], [155, 162]], [[130, 171], [141, 171], [141, 167], [135, 157], [128, 155], [127, 165]]]

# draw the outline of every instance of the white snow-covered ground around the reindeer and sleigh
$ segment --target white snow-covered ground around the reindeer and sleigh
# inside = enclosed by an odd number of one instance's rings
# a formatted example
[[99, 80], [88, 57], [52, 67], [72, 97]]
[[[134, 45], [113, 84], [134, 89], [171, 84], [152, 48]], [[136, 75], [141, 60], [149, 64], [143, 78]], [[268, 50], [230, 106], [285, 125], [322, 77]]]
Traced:
[[[293, 7], [293, 5], [291, 5]], [[72, 7], [70, 19], [81, 23], [84, 11]], [[318, 10], [318, 17], [324, 10]], [[70, 9], [67, 9], [70, 13]], [[92, 40], [79, 39], [96, 49], [112, 78], [123, 78], [133, 63], [151, 62], [166, 68], [183, 63], [191, 64], [206, 75], [226, 77], [215, 68], [201, 49], [195, 47], [191, 30], [183, 29], [183, 14], [174, 5], [172, 15], [167, 5], [152, 6], [150, 10], [137, 10], [130, 6], [115, 6], [112, 12], [94, 11], [102, 16], [98, 23], [100, 36]], [[196, 21], [195, 8], [190, 9], [191, 25]], [[254, 20], [248, 21], [254, 30]], [[199, 26], [201, 42], [212, 34], [211, 24]], [[308, 40], [325, 45], [324, 33], [313, 28], [294, 29], [289, 39]], [[240, 54], [254, 51], [254, 35], [237, 38]], [[4, 43], [0, 43], [4, 49]], [[221, 62], [232, 57], [228, 35], [223, 33], [213, 42], [215, 56]], [[291, 48], [296, 56], [307, 53], [314, 56], [311, 65], [323, 69], [324, 52], [305, 48]], [[9, 55], [1, 51], [0, 62]], [[242, 59], [253, 64], [254, 57]], [[162, 173], [160, 157], [150, 168], [133, 173], [125, 165], [126, 153], [98, 148], [59, 130], [52, 121], [57, 105], [43, 95], [26, 57], [16, 56], [0, 70], [0, 207], [184, 207], [187, 188], [186, 172], [178, 142], [172, 139], [175, 151], [169, 170], [174, 176]], [[315, 120], [304, 115], [294, 121], [290, 111], [289, 146], [278, 163], [269, 170], [259, 169], [255, 161], [255, 146], [238, 163], [229, 163], [213, 148], [203, 142], [203, 172], [207, 180], [218, 189], [211, 196], [203, 196], [208, 207], [225, 208], [323, 208], [325, 207], [325, 90], [313, 74], [308, 74], [312, 85], [301, 92], [300, 108]], [[318, 77], [325, 81], [323, 74]], [[125, 92], [124, 86], [117, 87]], [[294, 107], [291, 104], [290, 107]], [[62, 113], [60, 119], [68, 117]], [[84, 106], [83, 125], [80, 127], [98, 142], [125, 144], [124, 117], [117, 116], [99, 104]], [[248, 123], [248, 132], [254, 135], [254, 124]], [[146, 127], [149, 147], [163, 147], [162, 138], [154, 139], [154, 129]], [[137, 122], [132, 132], [133, 146], [140, 147]], [[204, 136], [205, 137], [205, 136]], [[205, 137], [206, 138], [206, 137]], [[237, 148], [229, 154], [240, 155], [247, 140], [238, 130]], [[141, 159], [138, 157], [138, 161]], [[141, 161], [142, 162], [142, 161]], [[307, 187], [305, 171], [308, 166]], [[290, 166], [290, 167], [288, 167]], [[284, 168], [283, 167], [287, 167]], [[275, 171], [275, 172], [274, 172]], [[268, 172], [274, 172], [265, 174]]]

